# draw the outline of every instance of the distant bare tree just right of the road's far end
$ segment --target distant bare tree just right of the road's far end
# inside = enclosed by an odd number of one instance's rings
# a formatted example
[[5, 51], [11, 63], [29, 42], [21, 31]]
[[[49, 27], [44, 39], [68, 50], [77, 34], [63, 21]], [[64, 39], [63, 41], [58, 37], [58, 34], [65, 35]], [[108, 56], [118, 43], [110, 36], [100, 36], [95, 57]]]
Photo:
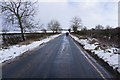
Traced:
[[71, 27], [74, 32], [77, 32], [78, 28], [82, 28], [82, 20], [79, 17], [74, 17], [71, 22]]

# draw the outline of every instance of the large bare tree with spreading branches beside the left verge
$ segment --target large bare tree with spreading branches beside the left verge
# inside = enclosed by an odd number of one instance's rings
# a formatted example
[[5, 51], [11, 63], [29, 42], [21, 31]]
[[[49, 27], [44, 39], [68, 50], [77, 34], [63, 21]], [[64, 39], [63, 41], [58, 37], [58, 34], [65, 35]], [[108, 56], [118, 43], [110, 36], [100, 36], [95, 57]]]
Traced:
[[24, 29], [34, 27], [35, 3], [30, 1], [23, 2], [22, 0], [9, 0], [0, 4], [5, 22], [12, 23], [14, 26], [20, 28], [23, 41], [25, 40]]

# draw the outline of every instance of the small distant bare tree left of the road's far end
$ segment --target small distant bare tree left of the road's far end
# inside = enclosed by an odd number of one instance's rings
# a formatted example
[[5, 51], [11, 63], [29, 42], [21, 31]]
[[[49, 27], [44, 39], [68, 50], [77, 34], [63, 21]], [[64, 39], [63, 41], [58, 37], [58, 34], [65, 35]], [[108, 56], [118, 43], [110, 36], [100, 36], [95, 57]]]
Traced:
[[56, 31], [56, 33], [60, 30], [60, 23], [57, 20], [51, 20], [48, 23], [48, 29], [52, 30], [53, 33]]

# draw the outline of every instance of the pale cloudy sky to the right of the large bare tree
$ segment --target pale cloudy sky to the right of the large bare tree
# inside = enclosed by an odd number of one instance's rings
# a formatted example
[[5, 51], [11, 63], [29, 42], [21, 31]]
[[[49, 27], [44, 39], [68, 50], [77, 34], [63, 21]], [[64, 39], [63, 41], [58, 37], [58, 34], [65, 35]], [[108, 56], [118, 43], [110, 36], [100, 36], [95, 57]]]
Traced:
[[80, 17], [87, 28], [98, 24], [118, 26], [117, 0], [39, 0], [37, 11], [44, 27], [50, 20], [58, 20], [62, 28], [69, 28], [75, 16]]

